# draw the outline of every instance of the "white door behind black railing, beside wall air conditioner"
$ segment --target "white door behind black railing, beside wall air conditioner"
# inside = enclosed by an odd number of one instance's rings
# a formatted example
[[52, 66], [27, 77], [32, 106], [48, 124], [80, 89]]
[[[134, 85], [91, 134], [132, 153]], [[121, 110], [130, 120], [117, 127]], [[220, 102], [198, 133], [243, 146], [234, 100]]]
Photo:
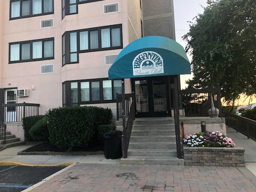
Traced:
[[[16, 104], [17, 89], [8, 89], [4, 91], [4, 104]], [[16, 107], [5, 108], [5, 122], [16, 121]]]

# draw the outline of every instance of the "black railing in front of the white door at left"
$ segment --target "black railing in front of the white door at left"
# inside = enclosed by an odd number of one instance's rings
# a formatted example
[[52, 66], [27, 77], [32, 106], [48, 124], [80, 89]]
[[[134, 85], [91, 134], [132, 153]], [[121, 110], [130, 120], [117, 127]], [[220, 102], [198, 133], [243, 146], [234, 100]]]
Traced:
[[3, 122], [21, 122], [22, 118], [39, 114], [40, 104], [2, 104]]

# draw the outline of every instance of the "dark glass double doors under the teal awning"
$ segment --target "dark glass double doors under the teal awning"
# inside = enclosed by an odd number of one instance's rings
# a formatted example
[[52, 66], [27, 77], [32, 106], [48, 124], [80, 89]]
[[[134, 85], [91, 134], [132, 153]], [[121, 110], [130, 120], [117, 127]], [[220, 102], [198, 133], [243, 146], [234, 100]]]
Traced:
[[166, 100], [166, 78], [132, 79], [135, 92], [136, 117], [168, 116]]

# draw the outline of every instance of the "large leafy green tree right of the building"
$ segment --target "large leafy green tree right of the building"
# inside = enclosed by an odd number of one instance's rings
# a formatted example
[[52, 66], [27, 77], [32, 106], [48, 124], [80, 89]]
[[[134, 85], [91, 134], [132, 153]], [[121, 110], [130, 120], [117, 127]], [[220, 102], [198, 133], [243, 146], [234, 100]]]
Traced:
[[256, 1], [208, 0], [183, 36], [192, 56], [188, 88], [216, 88], [229, 104], [256, 93]]

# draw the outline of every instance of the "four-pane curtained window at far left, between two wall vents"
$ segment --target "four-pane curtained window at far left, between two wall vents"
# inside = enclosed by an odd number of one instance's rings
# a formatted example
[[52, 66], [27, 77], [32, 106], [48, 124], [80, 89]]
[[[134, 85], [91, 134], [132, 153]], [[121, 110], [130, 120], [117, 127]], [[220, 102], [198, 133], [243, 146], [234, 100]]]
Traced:
[[9, 63], [48, 60], [54, 58], [53, 38], [9, 44]]

